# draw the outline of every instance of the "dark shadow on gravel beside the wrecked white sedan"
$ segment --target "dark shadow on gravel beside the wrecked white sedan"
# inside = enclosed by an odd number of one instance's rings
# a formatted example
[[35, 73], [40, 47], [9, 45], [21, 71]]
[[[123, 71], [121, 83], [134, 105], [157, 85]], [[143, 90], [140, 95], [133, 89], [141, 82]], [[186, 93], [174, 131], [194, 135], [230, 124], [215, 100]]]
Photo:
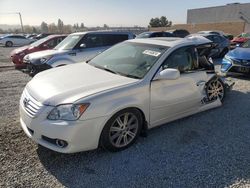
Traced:
[[250, 181], [250, 93], [149, 131], [127, 150], [60, 154], [38, 147], [66, 187], [226, 187]]

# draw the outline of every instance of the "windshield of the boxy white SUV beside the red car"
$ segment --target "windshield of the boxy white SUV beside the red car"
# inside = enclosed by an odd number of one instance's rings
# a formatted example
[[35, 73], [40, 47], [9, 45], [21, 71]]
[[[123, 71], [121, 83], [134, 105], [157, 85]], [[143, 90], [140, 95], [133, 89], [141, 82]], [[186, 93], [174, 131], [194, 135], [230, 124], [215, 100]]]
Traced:
[[82, 35], [69, 35], [60, 42], [54, 49], [56, 50], [72, 50], [81, 40]]

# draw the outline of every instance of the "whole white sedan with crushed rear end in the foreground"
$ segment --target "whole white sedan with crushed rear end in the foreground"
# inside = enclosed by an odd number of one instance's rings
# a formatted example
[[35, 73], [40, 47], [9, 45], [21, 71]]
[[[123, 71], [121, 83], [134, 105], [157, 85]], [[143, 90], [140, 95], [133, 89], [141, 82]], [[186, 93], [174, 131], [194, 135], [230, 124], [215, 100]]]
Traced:
[[23, 91], [21, 126], [62, 153], [125, 149], [147, 129], [221, 106], [211, 46], [203, 37], [134, 39], [39, 73]]

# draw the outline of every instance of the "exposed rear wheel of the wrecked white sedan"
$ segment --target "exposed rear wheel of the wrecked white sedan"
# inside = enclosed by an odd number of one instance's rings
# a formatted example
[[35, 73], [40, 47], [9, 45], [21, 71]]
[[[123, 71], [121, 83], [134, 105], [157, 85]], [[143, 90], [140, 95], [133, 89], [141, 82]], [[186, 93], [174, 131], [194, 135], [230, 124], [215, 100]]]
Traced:
[[223, 102], [226, 96], [226, 88], [223, 81], [218, 77], [212, 78], [206, 84], [206, 94], [209, 101], [215, 101], [219, 98]]

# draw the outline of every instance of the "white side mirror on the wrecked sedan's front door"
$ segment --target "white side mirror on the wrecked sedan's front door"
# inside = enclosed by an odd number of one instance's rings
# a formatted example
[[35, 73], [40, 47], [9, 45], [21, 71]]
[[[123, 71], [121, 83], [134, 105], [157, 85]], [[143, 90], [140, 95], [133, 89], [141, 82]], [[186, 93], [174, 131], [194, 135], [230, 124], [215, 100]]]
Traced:
[[154, 80], [177, 80], [180, 77], [180, 71], [177, 69], [164, 69], [157, 73]]

